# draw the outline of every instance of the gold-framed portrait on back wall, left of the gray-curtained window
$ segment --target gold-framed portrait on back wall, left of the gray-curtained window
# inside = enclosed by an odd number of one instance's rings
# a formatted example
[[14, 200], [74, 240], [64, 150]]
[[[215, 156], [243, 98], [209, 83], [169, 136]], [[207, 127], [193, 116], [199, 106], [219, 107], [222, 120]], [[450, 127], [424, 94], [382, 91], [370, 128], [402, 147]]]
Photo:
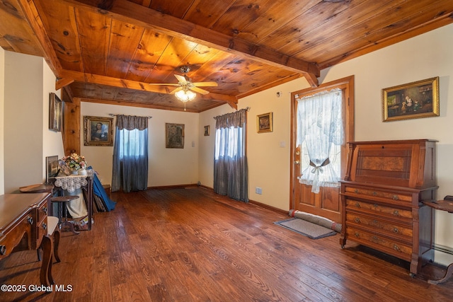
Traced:
[[84, 116], [84, 145], [113, 146], [113, 117]]

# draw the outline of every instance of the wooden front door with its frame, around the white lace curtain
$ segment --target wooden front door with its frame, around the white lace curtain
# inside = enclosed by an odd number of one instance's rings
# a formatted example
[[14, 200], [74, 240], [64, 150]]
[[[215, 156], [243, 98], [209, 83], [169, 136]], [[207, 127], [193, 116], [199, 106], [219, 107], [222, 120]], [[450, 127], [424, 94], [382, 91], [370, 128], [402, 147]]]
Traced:
[[301, 176], [301, 163], [303, 160], [301, 146], [296, 146], [297, 135], [297, 100], [301, 95], [310, 95], [321, 91], [328, 91], [333, 88], [340, 88], [343, 91], [343, 124], [345, 129], [345, 143], [340, 146], [341, 175], [345, 174], [345, 167], [348, 159], [347, 142], [354, 139], [354, 77], [350, 76], [331, 83], [320, 85], [318, 88], [308, 88], [292, 93], [292, 140], [291, 140], [291, 200], [290, 209], [297, 209], [310, 214], [319, 215], [341, 222], [340, 213], [340, 187], [321, 187], [319, 193], [311, 192], [311, 185], [304, 185], [299, 182]]

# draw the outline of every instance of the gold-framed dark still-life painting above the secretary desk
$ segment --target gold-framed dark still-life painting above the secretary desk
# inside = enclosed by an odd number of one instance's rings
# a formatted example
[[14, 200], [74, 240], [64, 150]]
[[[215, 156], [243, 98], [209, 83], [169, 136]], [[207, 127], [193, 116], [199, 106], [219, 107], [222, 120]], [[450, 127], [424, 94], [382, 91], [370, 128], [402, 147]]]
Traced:
[[439, 116], [439, 77], [382, 90], [384, 122]]

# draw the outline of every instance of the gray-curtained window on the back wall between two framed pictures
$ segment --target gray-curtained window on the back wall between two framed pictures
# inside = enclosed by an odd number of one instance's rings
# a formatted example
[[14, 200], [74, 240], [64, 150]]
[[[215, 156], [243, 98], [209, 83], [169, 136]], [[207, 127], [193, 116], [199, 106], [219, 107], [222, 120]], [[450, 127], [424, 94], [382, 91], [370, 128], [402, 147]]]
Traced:
[[112, 192], [147, 190], [148, 117], [117, 115]]

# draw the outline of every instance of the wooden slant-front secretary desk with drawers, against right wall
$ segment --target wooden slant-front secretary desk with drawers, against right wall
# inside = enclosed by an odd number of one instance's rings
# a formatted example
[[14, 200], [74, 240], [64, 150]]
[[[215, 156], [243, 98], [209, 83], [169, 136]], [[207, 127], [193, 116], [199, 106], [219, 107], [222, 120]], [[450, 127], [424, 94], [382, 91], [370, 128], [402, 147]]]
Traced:
[[341, 181], [340, 245], [352, 240], [411, 262], [411, 276], [434, 260], [435, 144], [428, 139], [354, 141]]

